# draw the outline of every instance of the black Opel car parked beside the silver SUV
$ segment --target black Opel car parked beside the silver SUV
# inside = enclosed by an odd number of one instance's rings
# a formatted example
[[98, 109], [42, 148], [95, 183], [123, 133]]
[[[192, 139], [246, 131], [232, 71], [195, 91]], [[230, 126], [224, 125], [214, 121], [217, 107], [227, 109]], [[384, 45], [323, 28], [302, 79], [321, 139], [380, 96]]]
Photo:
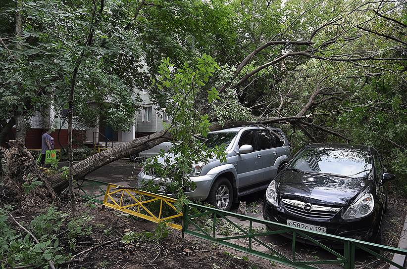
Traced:
[[379, 242], [387, 181], [395, 179], [386, 172], [373, 147], [340, 143], [306, 146], [271, 181], [263, 217], [302, 229]]

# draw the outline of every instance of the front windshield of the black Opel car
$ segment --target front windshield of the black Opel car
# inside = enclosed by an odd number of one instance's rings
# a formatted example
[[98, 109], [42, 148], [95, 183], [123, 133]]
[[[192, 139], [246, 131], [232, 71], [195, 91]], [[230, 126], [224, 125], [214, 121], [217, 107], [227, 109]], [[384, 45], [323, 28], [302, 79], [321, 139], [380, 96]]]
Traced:
[[353, 148], [312, 147], [298, 154], [287, 168], [308, 173], [363, 178], [371, 172], [372, 162], [367, 151]]

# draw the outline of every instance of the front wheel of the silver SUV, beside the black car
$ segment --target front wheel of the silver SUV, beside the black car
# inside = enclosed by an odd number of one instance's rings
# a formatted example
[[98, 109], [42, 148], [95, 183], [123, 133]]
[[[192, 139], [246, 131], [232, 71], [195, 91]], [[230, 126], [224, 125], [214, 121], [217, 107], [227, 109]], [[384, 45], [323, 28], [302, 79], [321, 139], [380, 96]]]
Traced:
[[207, 201], [217, 209], [230, 210], [233, 204], [233, 188], [230, 181], [223, 177], [216, 179], [210, 188]]

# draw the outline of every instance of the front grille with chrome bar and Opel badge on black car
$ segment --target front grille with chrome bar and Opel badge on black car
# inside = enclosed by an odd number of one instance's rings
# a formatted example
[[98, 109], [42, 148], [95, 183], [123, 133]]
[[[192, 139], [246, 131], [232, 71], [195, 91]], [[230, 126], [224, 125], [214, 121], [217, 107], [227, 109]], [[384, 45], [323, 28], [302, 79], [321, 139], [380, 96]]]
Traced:
[[296, 214], [301, 217], [306, 218], [313, 218], [313, 219], [329, 219], [334, 217], [341, 208], [337, 207], [326, 207], [326, 206], [318, 206], [312, 205], [312, 209], [309, 212], [304, 210], [304, 206], [307, 203], [290, 200], [290, 199], [282, 199], [285, 209], [293, 214]]

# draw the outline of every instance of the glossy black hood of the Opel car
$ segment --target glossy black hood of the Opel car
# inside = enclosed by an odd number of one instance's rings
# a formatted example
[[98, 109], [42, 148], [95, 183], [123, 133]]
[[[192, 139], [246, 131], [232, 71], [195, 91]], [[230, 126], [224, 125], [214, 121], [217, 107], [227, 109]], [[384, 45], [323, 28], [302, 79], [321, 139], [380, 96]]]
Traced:
[[347, 206], [359, 193], [371, 188], [368, 179], [303, 174], [292, 170], [280, 173], [276, 181], [281, 198], [319, 205]]

